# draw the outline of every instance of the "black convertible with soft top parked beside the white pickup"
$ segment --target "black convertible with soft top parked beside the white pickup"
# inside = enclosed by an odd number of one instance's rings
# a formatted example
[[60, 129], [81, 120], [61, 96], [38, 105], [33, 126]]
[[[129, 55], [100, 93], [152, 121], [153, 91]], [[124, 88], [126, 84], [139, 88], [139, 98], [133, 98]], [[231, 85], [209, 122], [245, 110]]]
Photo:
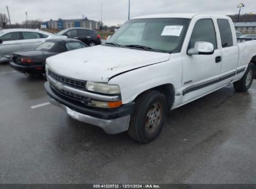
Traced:
[[35, 50], [14, 52], [10, 65], [21, 73], [42, 74], [45, 72], [45, 60], [69, 50], [88, 47], [76, 39], [49, 39]]

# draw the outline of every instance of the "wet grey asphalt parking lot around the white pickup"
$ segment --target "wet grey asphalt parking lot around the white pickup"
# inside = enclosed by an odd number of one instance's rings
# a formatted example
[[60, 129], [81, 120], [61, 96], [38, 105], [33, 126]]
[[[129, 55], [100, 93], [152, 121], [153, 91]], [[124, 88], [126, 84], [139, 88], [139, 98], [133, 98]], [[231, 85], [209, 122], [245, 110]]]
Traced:
[[44, 82], [0, 65], [0, 183], [256, 182], [256, 80], [175, 109], [144, 145], [69, 118]]

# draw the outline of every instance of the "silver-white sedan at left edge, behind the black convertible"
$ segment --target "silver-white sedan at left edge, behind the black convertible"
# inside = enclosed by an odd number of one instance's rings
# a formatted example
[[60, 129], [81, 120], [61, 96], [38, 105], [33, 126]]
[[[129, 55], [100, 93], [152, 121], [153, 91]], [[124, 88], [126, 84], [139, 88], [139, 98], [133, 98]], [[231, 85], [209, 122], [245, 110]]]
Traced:
[[12, 53], [21, 50], [33, 50], [50, 38], [67, 38], [35, 29], [0, 30], [0, 63], [8, 62]]

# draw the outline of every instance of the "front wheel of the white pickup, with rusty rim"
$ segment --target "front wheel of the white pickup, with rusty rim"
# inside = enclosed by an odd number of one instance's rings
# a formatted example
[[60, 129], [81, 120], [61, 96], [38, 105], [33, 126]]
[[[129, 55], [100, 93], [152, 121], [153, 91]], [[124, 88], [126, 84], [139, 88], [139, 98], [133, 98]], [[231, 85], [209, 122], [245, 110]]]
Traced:
[[148, 143], [156, 139], [164, 126], [167, 101], [159, 91], [146, 91], [135, 101], [128, 134], [138, 142]]

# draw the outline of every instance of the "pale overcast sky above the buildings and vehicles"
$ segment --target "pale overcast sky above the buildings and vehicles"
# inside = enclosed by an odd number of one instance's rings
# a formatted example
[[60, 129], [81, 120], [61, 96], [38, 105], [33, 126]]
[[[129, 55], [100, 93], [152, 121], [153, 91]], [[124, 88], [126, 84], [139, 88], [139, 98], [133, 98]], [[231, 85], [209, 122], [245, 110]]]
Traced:
[[[131, 17], [161, 13], [209, 13], [237, 14], [237, 5], [243, 2], [241, 13], [256, 14], [255, 0], [130, 0]], [[100, 21], [103, 4], [103, 23], [107, 25], [123, 24], [128, 19], [128, 0], [1, 0], [0, 12], [7, 14], [9, 6], [11, 22], [29, 19], [88, 19]]]

